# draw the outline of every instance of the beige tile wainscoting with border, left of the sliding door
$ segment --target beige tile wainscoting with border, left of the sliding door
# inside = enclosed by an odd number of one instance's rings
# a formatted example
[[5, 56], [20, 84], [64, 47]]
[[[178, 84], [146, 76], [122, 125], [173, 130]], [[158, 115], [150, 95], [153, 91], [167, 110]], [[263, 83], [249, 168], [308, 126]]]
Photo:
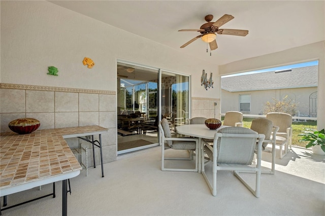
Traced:
[[[116, 92], [48, 86], [0, 84], [1, 132], [18, 118], [35, 118], [39, 129], [99, 125], [109, 131], [102, 135], [104, 163], [116, 160]], [[94, 137], [98, 139], [98, 137]], [[88, 166], [93, 164], [92, 145], [78, 138], [66, 139], [71, 148], [88, 147]], [[95, 148], [96, 164], [100, 163]]]

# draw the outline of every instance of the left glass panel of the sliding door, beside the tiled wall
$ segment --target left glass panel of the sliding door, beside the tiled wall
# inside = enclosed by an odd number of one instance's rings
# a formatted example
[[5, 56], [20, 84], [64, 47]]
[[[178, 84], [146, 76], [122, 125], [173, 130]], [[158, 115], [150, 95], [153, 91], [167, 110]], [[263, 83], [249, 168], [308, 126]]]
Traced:
[[117, 153], [158, 145], [158, 70], [117, 63]]

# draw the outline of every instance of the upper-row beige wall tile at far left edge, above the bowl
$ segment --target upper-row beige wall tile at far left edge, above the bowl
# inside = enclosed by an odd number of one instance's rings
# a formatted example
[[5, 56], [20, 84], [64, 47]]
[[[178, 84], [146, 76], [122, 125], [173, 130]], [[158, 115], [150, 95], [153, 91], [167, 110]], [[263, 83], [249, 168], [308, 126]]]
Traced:
[[1, 113], [25, 113], [25, 90], [0, 89]]

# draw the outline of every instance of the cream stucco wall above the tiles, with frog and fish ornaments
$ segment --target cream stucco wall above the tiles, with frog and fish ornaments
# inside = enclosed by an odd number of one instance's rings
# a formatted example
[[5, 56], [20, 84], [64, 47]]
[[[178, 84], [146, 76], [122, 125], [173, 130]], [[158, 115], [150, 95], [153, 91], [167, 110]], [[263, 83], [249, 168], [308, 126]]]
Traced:
[[[84, 57], [95, 62], [92, 69]], [[219, 98], [218, 67], [45, 1], [1, 1], [1, 82], [116, 91], [116, 59], [192, 75], [192, 96]], [[207, 59], [209, 60], [209, 59]], [[55, 66], [59, 76], [47, 75]], [[215, 88], [201, 87], [202, 69]]]

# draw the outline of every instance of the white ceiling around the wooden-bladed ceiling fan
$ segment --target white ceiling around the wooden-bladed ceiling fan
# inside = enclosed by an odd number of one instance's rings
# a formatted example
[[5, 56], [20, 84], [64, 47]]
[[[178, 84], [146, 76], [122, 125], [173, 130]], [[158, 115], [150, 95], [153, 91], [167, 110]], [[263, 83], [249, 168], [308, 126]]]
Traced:
[[[325, 40], [325, 1], [50, 1], [169, 46], [184, 54], [226, 64]], [[235, 19], [221, 28], [249, 30], [246, 37], [217, 35], [218, 49], [206, 52], [198, 39], [208, 14]], [[210, 52], [210, 51], [209, 51]]]

